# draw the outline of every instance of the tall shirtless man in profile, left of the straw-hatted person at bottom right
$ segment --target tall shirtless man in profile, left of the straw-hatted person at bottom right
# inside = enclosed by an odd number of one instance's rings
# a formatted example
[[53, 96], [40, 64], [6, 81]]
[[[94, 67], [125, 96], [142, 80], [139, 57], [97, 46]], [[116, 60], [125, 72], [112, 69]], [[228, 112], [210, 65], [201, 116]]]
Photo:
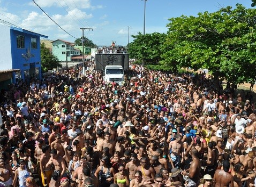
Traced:
[[198, 151], [193, 147], [191, 150], [191, 165], [189, 169], [189, 173], [187, 173], [185, 170], [182, 172], [182, 175], [186, 178], [185, 180], [189, 181], [188, 186], [190, 187], [196, 187], [199, 184], [200, 180], [200, 170], [201, 170], [201, 162], [199, 158], [197, 157]]

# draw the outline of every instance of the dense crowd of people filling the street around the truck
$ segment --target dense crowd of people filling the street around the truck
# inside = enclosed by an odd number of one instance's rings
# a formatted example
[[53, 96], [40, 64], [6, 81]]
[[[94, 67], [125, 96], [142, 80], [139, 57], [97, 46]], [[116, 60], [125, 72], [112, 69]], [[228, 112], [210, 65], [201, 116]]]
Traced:
[[130, 67], [122, 85], [77, 66], [2, 90], [0, 186], [254, 186], [250, 93]]

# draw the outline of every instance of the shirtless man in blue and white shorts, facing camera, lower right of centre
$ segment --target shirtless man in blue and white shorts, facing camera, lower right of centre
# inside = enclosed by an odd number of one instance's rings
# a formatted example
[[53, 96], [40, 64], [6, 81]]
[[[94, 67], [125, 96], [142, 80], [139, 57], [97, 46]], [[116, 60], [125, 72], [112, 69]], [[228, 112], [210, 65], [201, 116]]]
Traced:
[[175, 140], [169, 143], [169, 152], [171, 155], [168, 154], [169, 160], [171, 160], [175, 167], [177, 167], [181, 159], [184, 157], [184, 149], [183, 149], [183, 142], [182, 136], [180, 134], [175, 135]]

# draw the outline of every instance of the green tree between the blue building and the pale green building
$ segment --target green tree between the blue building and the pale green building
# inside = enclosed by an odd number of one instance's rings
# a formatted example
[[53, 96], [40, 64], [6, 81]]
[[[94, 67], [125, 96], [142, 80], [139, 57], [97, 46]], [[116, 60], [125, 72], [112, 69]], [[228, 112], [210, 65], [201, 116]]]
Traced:
[[61, 62], [58, 60], [57, 56], [50, 52], [50, 49], [46, 47], [44, 43], [40, 44], [41, 48], [41, 67], [43, 72], [47, 72], [56, 67], [62, 67]]

